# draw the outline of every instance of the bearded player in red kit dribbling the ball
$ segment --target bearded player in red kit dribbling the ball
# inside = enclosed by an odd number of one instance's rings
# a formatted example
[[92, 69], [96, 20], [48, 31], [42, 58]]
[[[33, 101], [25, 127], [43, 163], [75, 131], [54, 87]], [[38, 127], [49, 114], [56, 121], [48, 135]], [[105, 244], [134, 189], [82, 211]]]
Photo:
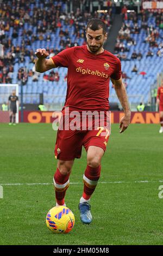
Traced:
[[[121, 78], [121, 62], [103, 48], [106, 38], [104, 22], [92, 19], [86, 26], [86, 45], [67, 48], [50, 59], [46, 59], [48, 53], [45, 49], [37, 49], [35, 69], [37, 72], [45, 72], [57, 66], [68, 68], [63, 116], [66, 107], [69, 107], [70, 112], [108, 112], [111, 78], [124, 110], [124, 117], [120, 121], [120, 133], [122, 133], [130, 123], [129, 103]], [[109, 139], [109, 129], [109, 125], [105, 128], [97, 127], [96, 130], [88, 130], [87, 126], [86, 131], [58, 129], [55, 144], [55, 157], [58, 159], [58, 164], [54, 174], [56, 205], [65, 205], [65, 194], [70, 184], [69, 176], [73, 162], [75, 158], [80, 158], [82, 146], [84, 146], [87, 152], [87, 166], [83, 176], [84, 191], [80, 198], [79, 210], [80, 219], [85, 224], [90, 224], [92, 221], [90, 198], [101, 174], [101, 160]], [[104, 135], [102, 130], [105, 130]]]

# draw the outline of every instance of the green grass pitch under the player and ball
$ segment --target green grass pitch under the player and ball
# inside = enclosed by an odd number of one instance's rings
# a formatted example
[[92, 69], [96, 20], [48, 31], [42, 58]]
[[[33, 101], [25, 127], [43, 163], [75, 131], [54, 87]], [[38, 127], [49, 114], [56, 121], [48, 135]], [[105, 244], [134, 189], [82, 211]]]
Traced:
[[66, 194], [66, 204], [76, 217], [68, 234], [51, 233], [45, 222], [55, 205], [51, 185], [57, 165], [55, 137], [51, 124], [0, 124], [0, 245], [161, 245], [163, 198], [158, 194], [163, 185], [163, 134], [159, 125], [133, 124], [121, 135], [118, 124], [112, 125], [101, 179], [91, 199], [90, 225], [80, 223], [78, 211], [86, 167], [83, 150], [73, 166], [70, 182], [74, 184]]

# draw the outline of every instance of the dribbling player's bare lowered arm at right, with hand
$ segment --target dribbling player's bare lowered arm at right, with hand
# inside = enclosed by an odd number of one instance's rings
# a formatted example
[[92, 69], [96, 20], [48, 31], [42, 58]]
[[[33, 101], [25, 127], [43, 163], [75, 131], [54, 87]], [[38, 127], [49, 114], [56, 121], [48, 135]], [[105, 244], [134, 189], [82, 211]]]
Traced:
[[128, 97], [126, 93], [126, 88], [124, 86], [124, 83], [122, 82], [122, 78], [120, 78], [119, 80], [114, 80], [112, 78], [110, 79], [111, 82], [114, 84], [115, 92], [124, 111], [124, 117], [122, 117], [120, 120], [120, 133], [122, 133], [127, 129], [130, 123], [131, 111], [129, 107]]

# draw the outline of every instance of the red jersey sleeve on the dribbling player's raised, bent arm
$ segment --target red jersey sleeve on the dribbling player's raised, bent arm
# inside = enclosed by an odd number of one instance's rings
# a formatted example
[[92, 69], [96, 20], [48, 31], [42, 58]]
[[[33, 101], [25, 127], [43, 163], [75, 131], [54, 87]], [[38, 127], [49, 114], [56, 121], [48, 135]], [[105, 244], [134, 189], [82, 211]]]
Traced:
[[52, 60], [55, 64], [55, 66], [63, 66], [65, 68], [68, 68], [68, 65], [71, 63], [71, 54], [73, 52], [72, 48], [67, 48], [57, 55], [52, 57]]

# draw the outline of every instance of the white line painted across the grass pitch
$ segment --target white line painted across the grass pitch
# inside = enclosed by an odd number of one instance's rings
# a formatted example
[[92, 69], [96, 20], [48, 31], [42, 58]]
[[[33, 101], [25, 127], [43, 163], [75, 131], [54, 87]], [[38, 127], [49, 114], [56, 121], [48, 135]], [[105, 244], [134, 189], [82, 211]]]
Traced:
[[[148, 180], [138, 180], [138, 181], [102, 181], [98, 182], [98, 184], [121, 184], [121, 183], [163, 183], [163, 180], [158, 181], [148, 181]], [[71, 185], [80, 185], [83, 184], [83, 182], [70, 182]], [[1, 186], [35, 186], [35, 185], [53, 185], [53, 183], [7, 183], [7, 184], [0, 184]]]

